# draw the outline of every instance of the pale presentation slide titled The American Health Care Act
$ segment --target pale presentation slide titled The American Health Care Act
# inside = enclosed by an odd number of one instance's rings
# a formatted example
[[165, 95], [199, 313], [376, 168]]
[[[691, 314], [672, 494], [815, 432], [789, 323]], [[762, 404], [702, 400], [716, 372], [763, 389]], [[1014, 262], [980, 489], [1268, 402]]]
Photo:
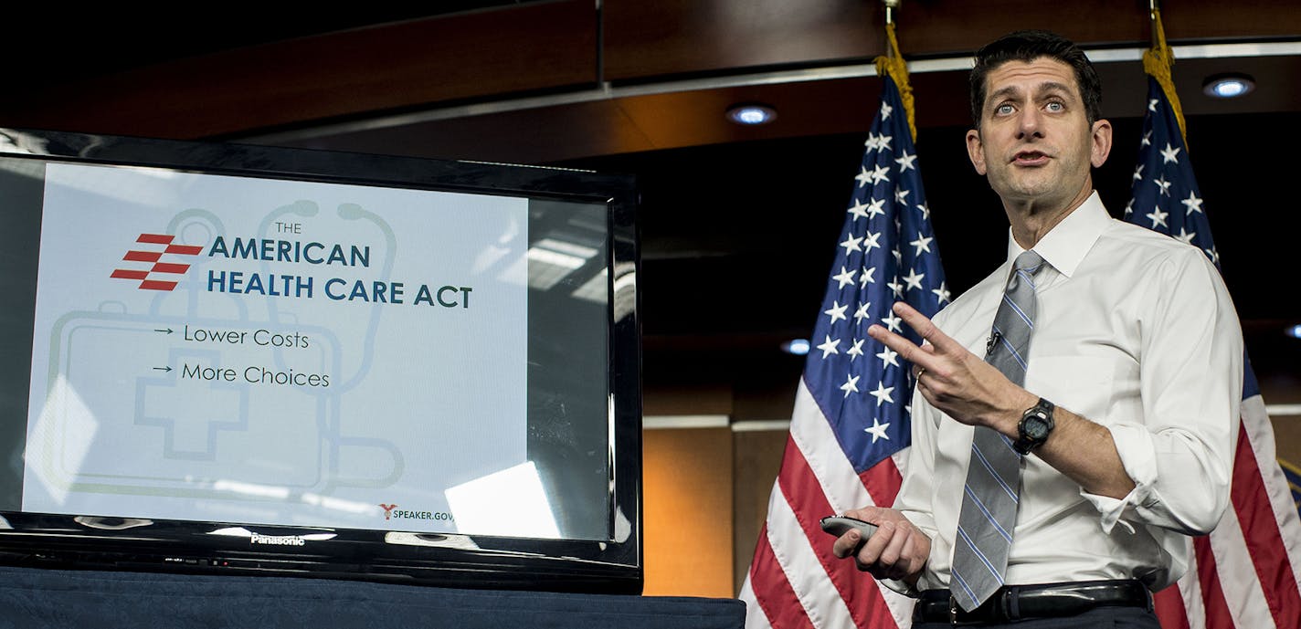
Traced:
[[48, 164], [22, 511], [510, 517], [527, 250], [527, 199]]

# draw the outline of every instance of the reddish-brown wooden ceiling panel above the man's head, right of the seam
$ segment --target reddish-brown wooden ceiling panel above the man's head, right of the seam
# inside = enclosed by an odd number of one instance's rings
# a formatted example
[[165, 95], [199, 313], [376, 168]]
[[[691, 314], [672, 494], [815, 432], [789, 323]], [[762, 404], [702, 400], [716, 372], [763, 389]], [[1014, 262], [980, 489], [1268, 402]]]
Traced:
[[[909, 58], [969, 55], [1012, 30], [1055, 30], [1085, 47], [1146, 45], [1147, 3], [1137, 0], [905, 0], [896, 12]], [[1163, 16], [1172, 43], [1301, 36], [1294, 0], [1185, 3]], [[744, 71], [869, 61], [886, 52], [874, 0], [606, 0], [604, 79]]]

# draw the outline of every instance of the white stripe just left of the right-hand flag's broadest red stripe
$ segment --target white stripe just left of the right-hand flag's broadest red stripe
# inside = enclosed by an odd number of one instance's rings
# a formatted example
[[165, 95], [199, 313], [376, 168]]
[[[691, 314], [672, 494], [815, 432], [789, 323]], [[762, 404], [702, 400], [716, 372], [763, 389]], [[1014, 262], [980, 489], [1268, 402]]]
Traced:
[[1215, 552], [1220, 591], [1224, 593], [1233, 625], [1244, 629], [1276, 629], [1261, 581], [1255, 576], [1255, 565], [1246, 554], [1246, 539], [1236, 511], [1231, 508], [1224, 513], [1210, 542]]

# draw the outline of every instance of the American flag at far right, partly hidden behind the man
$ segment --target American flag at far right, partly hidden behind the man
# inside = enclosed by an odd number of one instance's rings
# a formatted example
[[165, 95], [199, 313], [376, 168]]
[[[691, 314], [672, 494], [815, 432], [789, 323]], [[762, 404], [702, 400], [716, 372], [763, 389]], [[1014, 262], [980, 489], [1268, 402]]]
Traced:
[[[1184, 240], [1219, 266], [1175, 108], [1155, 78], [1147, 83], [1147, 113], [1125, 220]], [[1275, 460], [1261, 387], [1250, 363], [1245, 366], [1232, 508], [1214, 533], [1189, 541], [1188, 573], [1157, 594], [1164, 629], [1301, 628], [1301, 521]]]

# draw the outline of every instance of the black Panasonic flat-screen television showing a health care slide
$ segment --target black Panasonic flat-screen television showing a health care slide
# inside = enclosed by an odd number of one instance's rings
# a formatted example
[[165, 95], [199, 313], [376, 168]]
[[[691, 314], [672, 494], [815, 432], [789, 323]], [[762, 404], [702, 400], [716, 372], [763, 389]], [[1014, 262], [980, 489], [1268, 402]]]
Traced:
[[0, 129], [0, 563], [640, 593], [636, 204]]

